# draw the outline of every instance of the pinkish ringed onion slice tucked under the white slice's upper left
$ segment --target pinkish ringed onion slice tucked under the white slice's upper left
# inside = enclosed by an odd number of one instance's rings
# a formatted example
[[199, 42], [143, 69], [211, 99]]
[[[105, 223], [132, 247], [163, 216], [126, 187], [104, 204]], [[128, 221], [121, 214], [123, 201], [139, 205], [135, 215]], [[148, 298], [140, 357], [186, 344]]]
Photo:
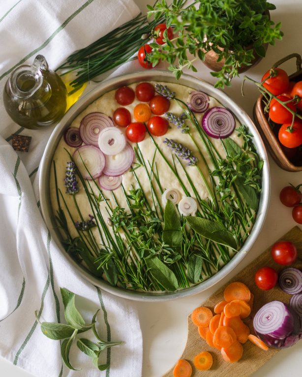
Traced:
[[87, 114], [80, 124], [80, 135], [85, 144], [98, 146], [98, 136], [107, 127], [115, 127], [113, 120], [102, 112]]

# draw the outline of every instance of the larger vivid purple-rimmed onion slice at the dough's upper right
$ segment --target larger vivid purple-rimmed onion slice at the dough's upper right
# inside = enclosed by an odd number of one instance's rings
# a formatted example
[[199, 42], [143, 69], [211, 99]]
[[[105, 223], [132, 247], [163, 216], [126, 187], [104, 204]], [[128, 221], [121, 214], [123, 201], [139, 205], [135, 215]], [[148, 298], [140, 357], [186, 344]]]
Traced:
[[202, 118], [202, 126], [205, 133], [215, 139], [223, 139], [230, 136], [235, 129], [234, 115], [226, 108], [215, 106], [209, 108]]

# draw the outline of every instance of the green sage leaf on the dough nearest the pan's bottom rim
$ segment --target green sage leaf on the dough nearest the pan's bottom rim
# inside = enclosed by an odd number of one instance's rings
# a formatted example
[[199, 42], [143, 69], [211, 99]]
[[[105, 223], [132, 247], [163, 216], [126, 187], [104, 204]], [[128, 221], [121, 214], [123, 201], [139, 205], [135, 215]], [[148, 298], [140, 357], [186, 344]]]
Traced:
[[161, 260], [152, 256], [145, 259], [147, 268], [150, 270], [151, 275], [160, 285], [167, 291], [175, 291], [178, 289], [177, 278], [171, 269], [169, 269]]

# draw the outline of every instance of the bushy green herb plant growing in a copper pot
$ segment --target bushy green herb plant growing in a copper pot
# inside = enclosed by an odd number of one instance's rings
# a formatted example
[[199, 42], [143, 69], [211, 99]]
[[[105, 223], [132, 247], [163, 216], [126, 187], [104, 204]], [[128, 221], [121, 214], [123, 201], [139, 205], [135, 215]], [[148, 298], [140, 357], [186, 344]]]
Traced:
[[159, 0], [147, 5], [148, 17], [165, 17], [167, 27], [173, 26], [175, 38], [158, 46], [151, 44], [149, 60], [155, 65], [166, 60], [177, 79], [183, 68], [197, 72], [193, 63], [205, 60], [206, 53], [217, 54], [224, 64], [220, 71], [211, 72], [217, 78], [216, 87], [230, 86], [242, 66], [250, 65], [255, 54], [265, 56], [264, 44], [275, 44], [283, 36], [281, 24], [270, 20], [268, 11], [275, 6], [267, 0], [197, 0], [186, 7], [187, 0]]

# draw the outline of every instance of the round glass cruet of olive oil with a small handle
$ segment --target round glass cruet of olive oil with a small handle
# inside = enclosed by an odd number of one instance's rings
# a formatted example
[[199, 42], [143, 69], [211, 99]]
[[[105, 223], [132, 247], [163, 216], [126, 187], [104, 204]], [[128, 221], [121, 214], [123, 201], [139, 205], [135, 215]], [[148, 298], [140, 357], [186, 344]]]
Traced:
[[3, 103], [9, 116], [30, 129], [58, 122], [66, 110], [66, 98], [63, 81], [48, 68], [43, 55], [37, 55], [32, 65], [17, 67], [3, 91]]

